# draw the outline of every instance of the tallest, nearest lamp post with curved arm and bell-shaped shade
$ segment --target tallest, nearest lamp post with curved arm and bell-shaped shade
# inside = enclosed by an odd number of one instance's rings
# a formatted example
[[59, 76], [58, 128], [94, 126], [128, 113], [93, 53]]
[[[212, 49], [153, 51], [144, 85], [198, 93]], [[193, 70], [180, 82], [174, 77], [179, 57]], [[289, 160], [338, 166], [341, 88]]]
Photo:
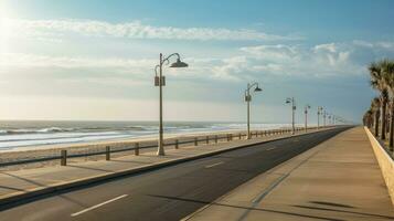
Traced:
[[[166, 76], [162, 75], [163, 64], [169, 65], [170, 59], [177, 56], [177, 62], [172, 63], [170, 67], [187, 67], [188, 64], [181, 62], [181, 56], [178, 53], [173, 53], [163, 59], [160, 53], [160, 63], [156, 65], [155, 72], [155, 86], [159, 87], [159, 141], [158, 141], [158, 156], [164, 155], [164, 144], [163, 144], [163, 107], [162, 107], [162, 87], [166, 86]], [[158, 73], [159, 70], [159, 73]]]

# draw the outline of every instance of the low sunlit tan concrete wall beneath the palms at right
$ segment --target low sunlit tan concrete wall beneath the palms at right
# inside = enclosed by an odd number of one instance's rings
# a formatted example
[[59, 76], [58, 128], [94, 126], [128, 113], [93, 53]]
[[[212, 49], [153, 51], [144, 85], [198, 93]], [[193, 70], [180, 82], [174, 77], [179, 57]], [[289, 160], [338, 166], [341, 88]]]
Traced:
[[381, 167], [384, 181], [386, 182], [392, 203], [394, 206], [394, 161], [388, 156], [388, 154], [383, 149], [377, 139], [372, 135], [372, 133], [364, 127], [368, 137], [371, 141], [373, 151], [377, 159], [379, 166]]

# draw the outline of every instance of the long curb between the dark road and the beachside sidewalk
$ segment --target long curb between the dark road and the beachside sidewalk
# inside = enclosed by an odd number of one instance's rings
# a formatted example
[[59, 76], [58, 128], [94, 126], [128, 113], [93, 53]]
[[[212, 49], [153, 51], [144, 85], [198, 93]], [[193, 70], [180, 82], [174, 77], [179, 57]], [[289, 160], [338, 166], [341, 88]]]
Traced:
[[[345, 128], [349, 129], [349, 127], [345, 127]], [[192, 157], [184, 157], [184, 158], [180, 158], [180, 159], [167, 160], [167, 161], [155, 164], [155, 165], [141, 166], [141, 167], [125, 169], [125, 170], [120, 170], [120, 171], [116, 171], [116, 172], [76, 179], [76, 180], [68, 181], [68, 182], [56, 183], [53, 186], [35, 188], [35, 189], [31, 189], [31, 190], [28, 190], [26, 192], [22, 192], [22, 193], [11, 193], [11, 194], [8, 194], [4, 198], [0, 199], [0, 207], [10, 206], [12, 203], [20, 203], [20, 201], [22, 201], [22, 200], [42, 197], [42, 196], [50, 194], [50, 193], [56, 193], [60, 191], [66, 191], [66, 190], [73, 189], [73, 188], [79, 188], [79, 187], [84, 187], [84, 186], [88, 186], [88, 185], [96, 185], [96, 183], [111, 180], [115, 178], [120, 178], [120, 177], [125, 177], [125, 176], [151, 171], [155, 169], [173, 166], [173, 165], [178, 165], [181, 162], [192, 161], [195, 159], [206, 158], [206, 157], [220, 155], [220, 154], [223, 154], [226, 151], [232, 151], [232, 150], [246, 148], [246, 147], [251, 147], [251, 146], [255, 146], [255, 145], [267, 144], [267, 143], [271, 143], [271, 141], [289, 139], [292, 137], [299, 137], [299, 136], [305, 136], [305, 135], [310, 135], [310, 134], [316, 134], [316, 133], [327, 131], [327, 130], [332, 130], [332, 129], [336, 129], [336, 128], [329, 128], [326, 130], [317, 130], [317, 131], [311, 131], [308, 134], [290, 135], [287, 137], [278, 137], [278, 138], [274, 138], [274, 139], [269, 139], [269, 140], [257, 141], [257, 143], [253, 143], [253, 144], [246, 144], [246, 145], [241, 145], [241, 146], [236, 146], [236, 147], [231, 147], [227, 149], [214, 150], [214, 151], [210, 151], [210, 152], [205, 152], [205, 154], [201, 154], [201, 155], [195, 155]], [[1, 210], [1, 208], [0, 208], [0, 210]]]

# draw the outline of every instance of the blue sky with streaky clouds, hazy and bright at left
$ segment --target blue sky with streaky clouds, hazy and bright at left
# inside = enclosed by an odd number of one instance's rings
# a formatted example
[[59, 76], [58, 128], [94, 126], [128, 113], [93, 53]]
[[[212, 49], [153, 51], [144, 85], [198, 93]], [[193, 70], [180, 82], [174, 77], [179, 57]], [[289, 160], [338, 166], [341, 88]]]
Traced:
[[[391, 0], [0, 0], [0, 119], [360, 122], [366, 66], [394, 56]], [[174, 57], [171, 59], [174, 61]]]

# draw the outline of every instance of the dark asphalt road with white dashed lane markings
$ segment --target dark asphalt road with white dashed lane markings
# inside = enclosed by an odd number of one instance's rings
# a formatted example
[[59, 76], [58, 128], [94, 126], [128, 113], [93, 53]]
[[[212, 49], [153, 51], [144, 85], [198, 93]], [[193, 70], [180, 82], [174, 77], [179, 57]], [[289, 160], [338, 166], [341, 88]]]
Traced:
[[343, 131], [255, 145], [0, 208], [0, 220], [180, 220], [253, 177]]

